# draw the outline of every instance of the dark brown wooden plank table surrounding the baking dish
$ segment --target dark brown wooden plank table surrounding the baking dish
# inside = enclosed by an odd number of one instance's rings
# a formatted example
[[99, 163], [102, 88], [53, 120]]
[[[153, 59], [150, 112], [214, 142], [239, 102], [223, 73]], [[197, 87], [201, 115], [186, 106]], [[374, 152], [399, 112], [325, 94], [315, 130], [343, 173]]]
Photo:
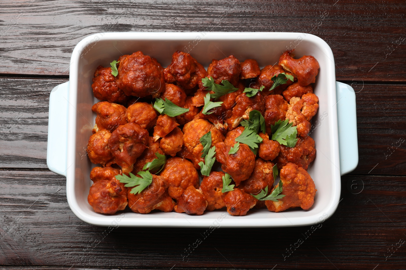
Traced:
[[[0, 269], [405, 269], [405, 13], [405, 2], [381, 0], [1, 1]], [[356, 91], [358, 118], [359, 165], [341, 178], [333, 217], [314, 230], [219, 228], [207, 238], [201, 228], [106, 231], [78, 219], [65, 178], [46, 165], [48, 99], [69, 79], [73, 47], [109, 31], [306, 32], [326, 40], [337, 80]]]

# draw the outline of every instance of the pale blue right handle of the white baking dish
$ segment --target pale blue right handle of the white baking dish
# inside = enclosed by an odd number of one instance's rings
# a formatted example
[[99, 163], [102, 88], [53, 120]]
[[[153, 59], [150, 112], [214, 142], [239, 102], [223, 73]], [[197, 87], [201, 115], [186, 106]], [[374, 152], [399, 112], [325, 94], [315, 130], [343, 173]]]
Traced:
[[340, 171], [341, 175], [344, 175], [352, 172], [358, 165], [355, 92], [346, 83], [338, 81], [335, 83], [337, 89]]

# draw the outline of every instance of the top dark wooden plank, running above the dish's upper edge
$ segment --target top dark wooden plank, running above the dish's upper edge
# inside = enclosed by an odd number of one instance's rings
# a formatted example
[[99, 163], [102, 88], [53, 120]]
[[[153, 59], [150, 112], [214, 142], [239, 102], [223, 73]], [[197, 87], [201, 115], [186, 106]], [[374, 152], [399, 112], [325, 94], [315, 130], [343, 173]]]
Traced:
[[406, 3], [399, 0], [6, 0], [0, 10], [0, 73], [67, 75], [73, 47], [97, 32], [264, 31], [320, 36], [338, 79], [405, 81]]

